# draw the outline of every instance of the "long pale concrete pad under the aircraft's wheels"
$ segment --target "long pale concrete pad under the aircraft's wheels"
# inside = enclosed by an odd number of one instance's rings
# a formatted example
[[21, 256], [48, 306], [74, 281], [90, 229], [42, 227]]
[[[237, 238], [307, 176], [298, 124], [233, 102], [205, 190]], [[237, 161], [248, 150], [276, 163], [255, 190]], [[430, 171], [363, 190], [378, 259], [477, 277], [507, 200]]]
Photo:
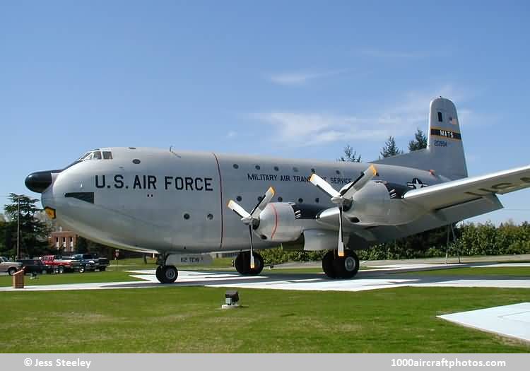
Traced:
[[[184, 271], [179, 270], [177, 281], [162, 285], [155, 278], [154, 270], [131, 271], [131, 276], [142, 281], [109, 283], [69, 283], [63, 285], [27, 285], [24, 289], [11, 287], [0, 291], [45, 291], [45, 290], [110, 290], [117, 288], [170, 288], [175, 286], [205, 286], [230, 288], [266, 288], [276, 290], [315, 290], [315, 291], [363, 291], [383, 288], [414, 287], [491, 287], [491, 288], [530, 288], [530, 280], [517, 277], [505, 278], [469, 278], [465, 276], [398, 276], [396, 272], [407, 271], [404, 267], [393, 265], [391, 271], [360, 271], [350, 280], [331, 280], [324, 273], [275, 273], [264, 271], [260, 276], [240, 276], [235, 272]], [[403, 269], [401, 269], [403, 268]], [[408, 271], [417, 270], [416, 264], [408, 265]]]

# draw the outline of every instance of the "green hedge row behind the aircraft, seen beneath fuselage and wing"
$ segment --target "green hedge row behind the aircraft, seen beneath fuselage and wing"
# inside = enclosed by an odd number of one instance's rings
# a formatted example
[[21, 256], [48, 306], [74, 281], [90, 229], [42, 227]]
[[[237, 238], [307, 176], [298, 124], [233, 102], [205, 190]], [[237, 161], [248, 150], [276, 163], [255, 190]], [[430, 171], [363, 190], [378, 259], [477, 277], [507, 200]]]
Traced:
[[[454, 234], [456, 241], [452, 234], [449, 235], [449, 256], [530, 254], [530, 224], [527, 222], [499, 226], [493, 223], [463, 223], [454, 228]], [[446, 246], [447, 228], [444, 227], [358, 250], [357, 254], [361, 260], [444, 257]], [[315, 261], [322, 259], [325, 253], [284, 251], [281, 247], [260, 252], [266, 264]]]

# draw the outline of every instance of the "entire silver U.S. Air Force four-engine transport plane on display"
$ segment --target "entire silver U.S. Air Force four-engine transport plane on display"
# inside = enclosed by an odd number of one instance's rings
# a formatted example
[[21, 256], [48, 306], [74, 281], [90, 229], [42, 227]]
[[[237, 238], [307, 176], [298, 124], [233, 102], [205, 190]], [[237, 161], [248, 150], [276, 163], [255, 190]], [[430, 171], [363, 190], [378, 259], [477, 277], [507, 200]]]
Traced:
[[25, 184], [79, 235], [158, 252], [162, 283], [177, 278], [175, 254], [239, 252], [237, 271], [255, 275], [255, 249], [293, 242], [329, 250], [326, 275], [351, 278], [355, 249], [497, 210], [497, 194], [530, 187], [530, 166], [468, 177], [452, 101], [432, 100], [428, 133], [427, 148], [367, 164], [100, 148]]

